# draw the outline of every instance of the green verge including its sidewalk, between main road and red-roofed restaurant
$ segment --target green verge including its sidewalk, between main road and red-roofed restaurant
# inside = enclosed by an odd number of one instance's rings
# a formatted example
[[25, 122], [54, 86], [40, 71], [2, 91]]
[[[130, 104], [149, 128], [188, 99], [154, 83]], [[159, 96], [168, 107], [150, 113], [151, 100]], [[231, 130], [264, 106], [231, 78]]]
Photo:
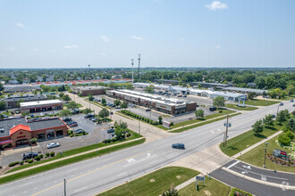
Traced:
[[7, 174], [0, 178], [0, 184], [8, 183], [22, 177], [36, 175], [38, 173], [54, 169], [56, 167], [63, 167], [84, 159], [91, 159], [97, 156], [111, 153], [113, 151], [119, 151], [131, 146], [138, 145], [140, 143], [144, 143], [145, 141], [145, 138], [139, 137], [134, 140], [129, 140], [125, 142], [97, 143], [70, 151], [63, 151], [63, 156], [58, 154], [53, 159], [41, 160], [10, 170]]

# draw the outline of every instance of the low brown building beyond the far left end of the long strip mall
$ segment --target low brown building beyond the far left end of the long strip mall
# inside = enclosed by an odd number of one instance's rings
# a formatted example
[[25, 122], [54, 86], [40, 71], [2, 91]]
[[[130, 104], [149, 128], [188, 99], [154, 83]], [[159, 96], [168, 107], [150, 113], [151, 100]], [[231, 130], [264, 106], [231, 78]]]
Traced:
[[105, 90], [111, 88], [105, 86], [72, 86], [72, 93], [81, 94], [82, 96], [105, 94]]

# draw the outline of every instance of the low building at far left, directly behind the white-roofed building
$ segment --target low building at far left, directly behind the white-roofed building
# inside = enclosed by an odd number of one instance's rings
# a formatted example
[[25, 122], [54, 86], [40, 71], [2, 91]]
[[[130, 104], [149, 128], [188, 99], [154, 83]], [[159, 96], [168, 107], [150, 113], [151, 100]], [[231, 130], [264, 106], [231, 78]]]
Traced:
[[47, 100], [45, 95], [13, 96], [3, 99], [7, 109], [19, 108], [19, 102], [38, 102]]

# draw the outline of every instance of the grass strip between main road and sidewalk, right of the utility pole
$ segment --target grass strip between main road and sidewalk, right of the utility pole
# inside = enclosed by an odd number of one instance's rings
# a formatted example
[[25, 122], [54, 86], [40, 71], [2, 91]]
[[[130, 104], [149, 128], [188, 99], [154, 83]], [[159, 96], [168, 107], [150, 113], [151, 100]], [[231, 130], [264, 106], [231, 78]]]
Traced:
[[224, 147], [223, 143], [220, 144], [220, 149], [224, 154], [232, 157], [233, 155], [247, 149], [249, 146], [258, 143], [259, 141], [265, 139], [269, 135], [273, 135], [275, 132], [280, 130], [280, 126], [275, 125], [274, 128], [264, 128], [261, 135], [255, 136], [253, 131], [250, 130], [244, 134], [233, 137], [227, 141], [227, 145]]

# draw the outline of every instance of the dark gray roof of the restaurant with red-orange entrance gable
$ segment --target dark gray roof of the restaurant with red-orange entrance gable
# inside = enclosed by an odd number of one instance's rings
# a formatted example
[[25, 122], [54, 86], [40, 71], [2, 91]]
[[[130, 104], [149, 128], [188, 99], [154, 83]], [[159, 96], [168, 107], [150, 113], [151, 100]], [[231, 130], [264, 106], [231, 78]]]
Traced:
[[0, 120], [0, 130], [4, 129], [4, 133], [0, 131], [0, 137], [9, 136], [10, 129], [17, 125], [29, 126], [31, 131], [39, 129], [50, 129], [53, 127], [64, 126], [63, 121], [60, 118], [40, 119], [38, 121], [26, 121], [26, 118], [5, 118]]

